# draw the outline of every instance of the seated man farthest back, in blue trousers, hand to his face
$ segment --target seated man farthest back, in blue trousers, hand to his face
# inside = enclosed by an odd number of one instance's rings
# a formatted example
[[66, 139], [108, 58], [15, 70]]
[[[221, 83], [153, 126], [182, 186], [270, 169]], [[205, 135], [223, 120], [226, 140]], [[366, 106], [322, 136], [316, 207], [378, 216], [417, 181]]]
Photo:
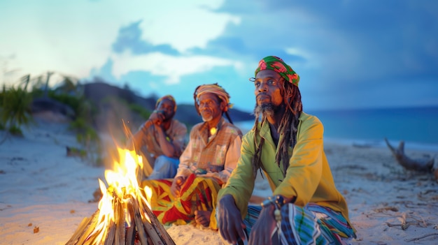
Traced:
[[159, 98], [155, 110], [127, 142], [127, 148], [140, 151], [143, 173], [148, 179], [173, 178], [183, 152], [187, 127], [173, 119], [176, 112], [174, 97]]

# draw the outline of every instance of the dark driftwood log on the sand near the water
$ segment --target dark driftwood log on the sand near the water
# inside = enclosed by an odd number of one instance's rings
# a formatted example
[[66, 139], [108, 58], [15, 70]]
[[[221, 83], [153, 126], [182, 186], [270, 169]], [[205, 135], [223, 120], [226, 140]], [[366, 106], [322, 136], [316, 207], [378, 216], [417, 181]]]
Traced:
[[[386, 145], [393, 153], [395, 160], [397, 163], [403, 166], [406, 170], [414, 170], [418, 172], [432, 172], [432, 168], [434, 165], [434, 158], [422, 158], [422, 159], [412, 159], [404, 154], [404, 141], [400, 141], [400, 144], [397, 148], [393, 147], [388, 139], [385, 138]], [[436, 171], [435, 171], [436, 172]], [[435, 173], [437, 175], [437, 173]], [[437, 178], [437, 177], [435, 177]]]

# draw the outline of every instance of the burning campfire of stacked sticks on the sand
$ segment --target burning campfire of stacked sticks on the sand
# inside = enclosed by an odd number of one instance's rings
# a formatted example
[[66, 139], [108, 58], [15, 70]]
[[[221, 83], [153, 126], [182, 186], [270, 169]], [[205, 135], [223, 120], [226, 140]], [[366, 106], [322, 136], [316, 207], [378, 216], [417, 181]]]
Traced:
[[137, 171], [141, 171], [141, 156], [135, 151], [118, 149], [120, 163], [114, 170], [105, 171], [104, 181], [99, 179], [102, 198], [99, 208], [84, 218], [76, 232], [66, 243], [72, 244], [175, 244], [164, 226], [150, 210], [145, 195], [150, 189], [139, 188]]

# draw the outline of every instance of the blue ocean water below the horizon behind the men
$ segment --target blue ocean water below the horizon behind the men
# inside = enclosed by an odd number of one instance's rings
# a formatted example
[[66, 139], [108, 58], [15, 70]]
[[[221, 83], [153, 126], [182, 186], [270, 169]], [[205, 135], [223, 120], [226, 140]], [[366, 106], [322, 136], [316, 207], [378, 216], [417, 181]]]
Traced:
[[[324, 125], [325, 141], [385, 146], [385, 138], [397, 147], [438, 152], [438, 107], [400, 107], [356, 110], [309, 110]], [[239, 123], [243, 131], [254, 121]]]

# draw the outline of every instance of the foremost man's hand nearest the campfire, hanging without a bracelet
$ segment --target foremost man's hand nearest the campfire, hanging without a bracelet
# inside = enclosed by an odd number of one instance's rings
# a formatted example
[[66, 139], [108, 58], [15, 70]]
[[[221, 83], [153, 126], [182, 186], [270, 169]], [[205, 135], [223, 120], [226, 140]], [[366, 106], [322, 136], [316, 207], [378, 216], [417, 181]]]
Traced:
[[237, 244], [239, 238], [245, 239], [245, 232], [243, 231], [245, 224], [233, 196], [224, 195], [220, 198], [218, 207], [218, 226], [222, 238], [229, 244]]

